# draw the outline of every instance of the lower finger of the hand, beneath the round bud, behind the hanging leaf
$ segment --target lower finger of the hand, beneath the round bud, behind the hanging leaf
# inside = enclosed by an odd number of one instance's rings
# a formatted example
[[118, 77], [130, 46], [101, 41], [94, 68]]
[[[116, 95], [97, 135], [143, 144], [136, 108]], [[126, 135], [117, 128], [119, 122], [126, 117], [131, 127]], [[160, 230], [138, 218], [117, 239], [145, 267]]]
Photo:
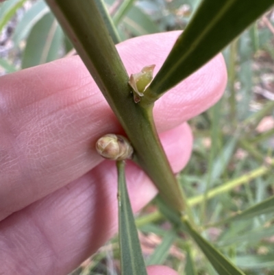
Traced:
[[[173, 169], [182, 169], [188, 160], [182, 156], [190, 156], [192, 145], [188, 125], [163, 134], [162, 143]], [[4, 219], [3, 274], [68, 274], [96, 252], [117, 231], [116, 178], [115, 163], [105, 160], [79, 180]], [[126, 178], [132, 207], [138, 211], [156, 189], [132, 163]]]

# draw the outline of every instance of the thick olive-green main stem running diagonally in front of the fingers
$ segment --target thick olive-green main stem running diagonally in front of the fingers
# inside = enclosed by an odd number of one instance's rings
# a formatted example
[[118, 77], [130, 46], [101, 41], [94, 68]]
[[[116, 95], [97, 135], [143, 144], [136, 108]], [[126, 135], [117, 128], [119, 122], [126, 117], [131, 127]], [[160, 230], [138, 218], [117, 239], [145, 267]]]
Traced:
[[152, 122], [152, 108], [134, 102], [129, 77], [96, 2], [47, 0], [79, 56], [107, 99], [134, 147], [135, 160], [173, 209], [184, 211], [184, 196]]

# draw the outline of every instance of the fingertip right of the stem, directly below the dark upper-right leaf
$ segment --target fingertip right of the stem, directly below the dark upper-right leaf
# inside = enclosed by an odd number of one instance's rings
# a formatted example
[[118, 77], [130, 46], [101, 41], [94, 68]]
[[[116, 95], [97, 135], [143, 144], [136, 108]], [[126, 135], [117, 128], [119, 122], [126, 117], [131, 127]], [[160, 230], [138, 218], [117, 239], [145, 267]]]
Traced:
[[[173, 128], [201, 114], [219, 101], [226, 85], [227, 69], [220, 53], [156, 101], [153, 115], [158, 130]], [[162, 110], [164, 116], [160, 115]]]

